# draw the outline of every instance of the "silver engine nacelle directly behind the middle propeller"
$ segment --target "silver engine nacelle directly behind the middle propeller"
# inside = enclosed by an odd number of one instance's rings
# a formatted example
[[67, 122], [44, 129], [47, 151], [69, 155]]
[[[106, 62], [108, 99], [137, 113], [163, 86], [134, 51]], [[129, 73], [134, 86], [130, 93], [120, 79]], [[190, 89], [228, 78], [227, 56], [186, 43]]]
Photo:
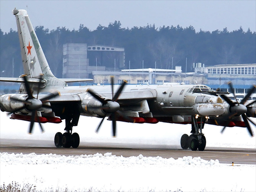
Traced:
[[[82, 101], [82, 110], [84, 113], [92, 116], [105, 116], [106, 112], [101, 109], [102, 103], [94, 98], [90, 93], [80, 95]], [[110, 98], [103, 98], [106, 101], [110, 101]]]

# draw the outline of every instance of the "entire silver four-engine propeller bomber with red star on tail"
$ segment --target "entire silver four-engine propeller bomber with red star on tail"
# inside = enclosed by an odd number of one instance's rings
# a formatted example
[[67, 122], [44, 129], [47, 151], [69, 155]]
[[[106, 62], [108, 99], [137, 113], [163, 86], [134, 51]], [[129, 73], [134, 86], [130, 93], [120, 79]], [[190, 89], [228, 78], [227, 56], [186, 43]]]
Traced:
[[[202, 133], [204, 124], [211, 124], [214, 120], [217, 125], [222, 125], [222, 115], [224, 118], [232, 116], [225, 126], [230, 126], [234, 117], [242, 115], [245, 126], [252, 132], [246, 110], [236, 112], [247, 99], [241, 104], [233, 103], [223, 96], [227, 92], [212, 91], [205, 85], [129, 85], [124, 80], [117, 87], [111, 77], [110, 85], [68, 86], [68, 82], [92, 79], [56, 78], [48, 66], [26, 10], [15, 8], [12, 12], [16, 17], [25, 74], [19, 78], [0, 78], [4, 82], [21, 83], [18, 93], [0, 96], [0, 109], [8, 112], [11, 119], [29, 121], [29, 133], [32, 133], [34, 122], [38, 122], [43, 131], [42, 123], [60, 123], [65, 119], [65, 132], [58, 132], [54, 137], [56, 147], [79, 146], [80, 137], [73, 133], [73, 127], [78, 125], [80, 115], [102, 118], [96, 132], [107, 117], [112, 121], [113, 136], [116, 136], [116, 121], [189, 123], [192, 124], [192, 134], [181, 137], [181, 147], [200, 151], [206, 146]], [[246, 109], [253, 104], [248, 104]]]

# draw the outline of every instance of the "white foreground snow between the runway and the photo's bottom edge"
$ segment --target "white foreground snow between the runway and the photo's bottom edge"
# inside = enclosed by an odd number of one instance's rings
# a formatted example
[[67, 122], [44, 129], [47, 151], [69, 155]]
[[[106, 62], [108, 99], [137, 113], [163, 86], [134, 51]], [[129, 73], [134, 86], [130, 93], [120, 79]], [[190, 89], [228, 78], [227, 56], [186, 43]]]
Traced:
[[218, 160], [106, 154], [0, 153], [0, 185], [32, 184], [42, 191], [256, 191], [256, 166]]

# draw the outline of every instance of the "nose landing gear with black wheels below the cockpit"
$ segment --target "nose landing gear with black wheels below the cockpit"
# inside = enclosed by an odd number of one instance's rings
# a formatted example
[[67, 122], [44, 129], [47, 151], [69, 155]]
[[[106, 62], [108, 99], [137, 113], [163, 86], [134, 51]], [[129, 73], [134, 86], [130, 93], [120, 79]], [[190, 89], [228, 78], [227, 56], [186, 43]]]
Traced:
[[192, 130], [191, 135], [182, 135], [180, 138], [180, 146], [182, 149], [190, 148], [192, 151], [203, 151], [206, 146], [206, 138], [202, 133], [206, 118], [200, 117], [200, 124], [198, 125], [197, 118], [192, 116]]

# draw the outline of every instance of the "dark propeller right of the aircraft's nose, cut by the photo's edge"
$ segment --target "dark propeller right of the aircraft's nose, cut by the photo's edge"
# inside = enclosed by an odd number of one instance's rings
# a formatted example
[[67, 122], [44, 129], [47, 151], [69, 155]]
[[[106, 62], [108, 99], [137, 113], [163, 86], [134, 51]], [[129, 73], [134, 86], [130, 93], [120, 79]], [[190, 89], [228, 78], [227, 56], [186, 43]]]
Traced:
[[[250, 111], [248, 110], [248, 107], [250, 105], [252, 105], [254, 102], [250, 103], [250, 104], [247, 104], [247, 105], [244, 105], [246, 103], [246, 101], [249, 99], [249, 97], [251, 96], [251, 94], [254, 92], [254, 90], [256, 89], [256, 86], [252, 86], [251, 90], [248, 92], [248, 94], [246, 94], [246, 96], [241, 100], [241, 102], [238, 102], [237, 98], [236, 98], [236, 94], [234, 92], [234, 88], [233, 88], [233, 85], [231, 82], [228, 83], [228, 86], [230, 87], [231, 91], [232, 91], [232, 94], [234, 95], [234, 98], [236, 100], [236, 102], [233, 102], [230, 98], [228, 98], [227, 96], [225, 95], [220, 95], [228, 104], [229, 104], [229, 111], [230, 111], [230, 116], [228, 117], [228, 123], [231, 121], [232, 117], [234, 116], [242, 116], [243, 120], [244, 120], [244, 123], [248, 129], [248, 131], [250, 132], [250, 135], [253, 136], [253, 133], [252, 133], [252, 129], [250, 128], [250, 124], [248, 122], [248, 120], [254, 124], [256, 126], [256, 124], [254, 122], [252, 122], [247, 116], [246, 114], [250, 113]], [[249, 114], [250, 115], [250, 114]], [[248, 115], [248, 116], [249, 116]], [[250, 115], [252, 116], [252, 115]], [[223, 127], [221, 133], [224, 132], [226, 126]]]

